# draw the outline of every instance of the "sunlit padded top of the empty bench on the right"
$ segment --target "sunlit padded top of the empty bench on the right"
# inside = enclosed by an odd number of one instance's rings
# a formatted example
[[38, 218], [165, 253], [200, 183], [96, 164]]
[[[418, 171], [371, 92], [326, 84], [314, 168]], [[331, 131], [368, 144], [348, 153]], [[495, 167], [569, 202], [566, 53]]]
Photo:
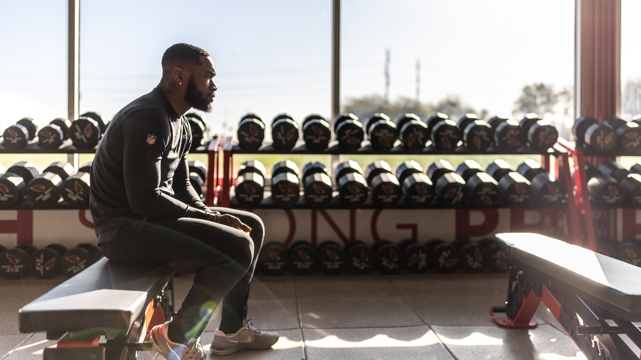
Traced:
[[641, 314], [641, 268], [539, 234], [496, 236], [510, 246], [510, 259], [559, 279], [593, 299]]

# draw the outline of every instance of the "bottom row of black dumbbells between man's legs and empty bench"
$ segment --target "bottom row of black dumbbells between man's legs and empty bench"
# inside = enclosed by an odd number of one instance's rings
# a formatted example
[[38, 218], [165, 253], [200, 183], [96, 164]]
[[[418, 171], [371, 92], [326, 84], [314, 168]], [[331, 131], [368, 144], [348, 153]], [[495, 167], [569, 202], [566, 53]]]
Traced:
[[375, 270], [382, 274], [401, 271], [420, 274], [428, 270], [449, 274], [460, 269], [503, 272], [508, 270], [507, 259], [504, 247], [495, 239], [478, 243], [469, 240], [445, 243], [437, 239], [419, 243], [408, 239], [398, 244], [379, 240], [371, 247], [360, 240], [350, 241], [344, 247], [331, 240], [323, 241], [318, 247], [307, 241], [296, 241], [289, 249], [272, 242], [263, 246], [256, 270], [267, 275], [282, 275], [287, 271], [296, 275], [316, 271], [327, 275], [368, 274]]

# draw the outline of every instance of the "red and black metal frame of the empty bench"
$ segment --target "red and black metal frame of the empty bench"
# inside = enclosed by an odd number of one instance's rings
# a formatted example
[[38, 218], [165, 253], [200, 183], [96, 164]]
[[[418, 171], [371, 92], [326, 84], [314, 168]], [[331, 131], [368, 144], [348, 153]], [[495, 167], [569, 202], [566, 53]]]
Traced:
[[[581, 290], [510, 257], [510, 277], [506, 306], [490, 308], [492, 320], [502, 327], [531, 328], [541, 302], [547, 306], [565, 332], [588, 359], [638, 360], [632, 348], [621, 338], [628, 336], [641, 348], [641, 330], [633, 323], [635, 315], [618, 315], [605, 304], [587, 300]], [[497, 318], [496, 313], [506, 313]]]

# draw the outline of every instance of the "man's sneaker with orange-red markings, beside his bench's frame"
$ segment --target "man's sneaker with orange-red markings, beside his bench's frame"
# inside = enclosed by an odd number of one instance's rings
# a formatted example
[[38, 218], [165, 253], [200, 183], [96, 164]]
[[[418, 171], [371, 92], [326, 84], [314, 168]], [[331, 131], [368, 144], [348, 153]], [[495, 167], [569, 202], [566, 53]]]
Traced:
[[169, 340], [169, 336], [167, 336], [167, 325], [169, 325], [169, 322], [156, 325], [151, 328], [150, 331], [151, 342], [154, 343], [154, 350], [156, 350], [158, 354], [167, 360], [206, 359], [207, 353], [204, 352], [200, 338], [189, 340], [187, 345], [174, 343], [174, 341]]

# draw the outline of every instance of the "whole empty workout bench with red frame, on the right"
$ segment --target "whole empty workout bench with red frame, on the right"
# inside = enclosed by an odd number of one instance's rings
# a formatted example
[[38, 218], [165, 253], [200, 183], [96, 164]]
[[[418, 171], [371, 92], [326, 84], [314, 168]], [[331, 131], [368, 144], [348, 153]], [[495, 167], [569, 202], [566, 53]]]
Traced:
[[639, 359], [631, 346], [641, 348], [641, 268], [539, 234], [496, 237], [508, 249], [510, 279], [506, 306], [490, 309], [495, 323], [535, 327], [544, 302], [588, 359]]

